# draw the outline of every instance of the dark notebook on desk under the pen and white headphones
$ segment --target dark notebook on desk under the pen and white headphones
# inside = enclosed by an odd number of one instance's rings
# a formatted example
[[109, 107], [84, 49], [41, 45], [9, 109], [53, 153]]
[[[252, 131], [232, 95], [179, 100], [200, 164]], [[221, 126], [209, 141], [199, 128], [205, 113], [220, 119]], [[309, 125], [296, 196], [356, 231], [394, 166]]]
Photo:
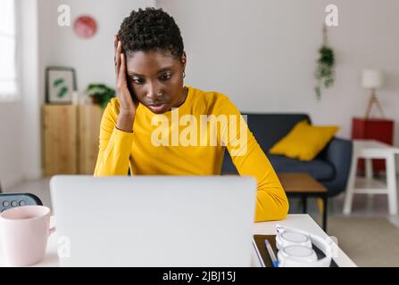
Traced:
[[[269, 240], [270, 246], [277, 256], [278, 249], [276, 247], [276, 235], [254, 234], [254, 249], [262, 267], [271, 267], [271, 258], [264, 245], [265, 239]], [[312, 245], [312, 247], [316, 252], [316, 255], [318, 256], [318, 259], [325, 257], [325, 255], [319, 248], [315, 247], [314, 245]], [[338, 267], [334, 259], [331, 260], [331, 264], [329, 265], [329, 267]]]

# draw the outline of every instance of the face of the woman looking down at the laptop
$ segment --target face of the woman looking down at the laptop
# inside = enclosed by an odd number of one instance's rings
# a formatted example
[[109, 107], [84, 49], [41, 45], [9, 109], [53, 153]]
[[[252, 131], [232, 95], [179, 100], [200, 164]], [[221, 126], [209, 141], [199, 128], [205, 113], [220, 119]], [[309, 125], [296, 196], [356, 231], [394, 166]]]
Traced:
[[155, 114], [179, 107], [187, 93], [183, 89], [186, 53], [181, 60], [169, 53], [135, 52], [127, 56], [129, 89], [138, 102]]

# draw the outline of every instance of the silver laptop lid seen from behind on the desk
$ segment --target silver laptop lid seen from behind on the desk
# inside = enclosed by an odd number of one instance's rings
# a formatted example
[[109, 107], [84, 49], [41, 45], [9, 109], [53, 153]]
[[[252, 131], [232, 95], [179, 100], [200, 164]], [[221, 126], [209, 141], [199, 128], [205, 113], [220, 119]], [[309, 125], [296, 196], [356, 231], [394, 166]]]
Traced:
[[251, 265], [253, 177], [55, 175], [50, 189], [62, 266]]

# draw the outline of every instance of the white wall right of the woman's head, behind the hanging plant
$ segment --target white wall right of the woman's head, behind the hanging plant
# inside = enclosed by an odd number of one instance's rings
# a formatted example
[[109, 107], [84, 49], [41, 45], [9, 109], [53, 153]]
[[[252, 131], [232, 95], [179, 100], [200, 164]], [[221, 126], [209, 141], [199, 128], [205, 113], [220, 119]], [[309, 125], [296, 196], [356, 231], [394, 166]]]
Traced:
[[[396, 121], [399, 144], [399, 1], [397, 0], [158, 0], [178, 22], [187, 51], [186, 84], [228, 94], [240, 110], [307, 112], [314, 124], [341, 126], [362, 116], [370, 93], [361, 70], [383, 69], [378, 98]], [[337, 57], [337, 82], [313, 92], [313, 71], [328, 4], [339, 26], [328, 28]]]

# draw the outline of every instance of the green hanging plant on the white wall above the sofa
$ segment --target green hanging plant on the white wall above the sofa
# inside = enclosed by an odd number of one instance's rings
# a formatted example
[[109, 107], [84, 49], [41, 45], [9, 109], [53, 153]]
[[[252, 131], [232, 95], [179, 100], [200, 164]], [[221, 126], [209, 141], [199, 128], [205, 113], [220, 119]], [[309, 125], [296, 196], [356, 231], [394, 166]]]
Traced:
[[321, 98], [321, 86], [328, 88], [334, 85], [336, 72], [335, 72], [335, 57], [334, 51], [328, 47], [327, 27], [323, 27], [323, 45], [319, 49], [319, 59], [317, 61], [316, 71], [314, 77], [317, 80], [317, 85], [314, 87], [317, 99]]

